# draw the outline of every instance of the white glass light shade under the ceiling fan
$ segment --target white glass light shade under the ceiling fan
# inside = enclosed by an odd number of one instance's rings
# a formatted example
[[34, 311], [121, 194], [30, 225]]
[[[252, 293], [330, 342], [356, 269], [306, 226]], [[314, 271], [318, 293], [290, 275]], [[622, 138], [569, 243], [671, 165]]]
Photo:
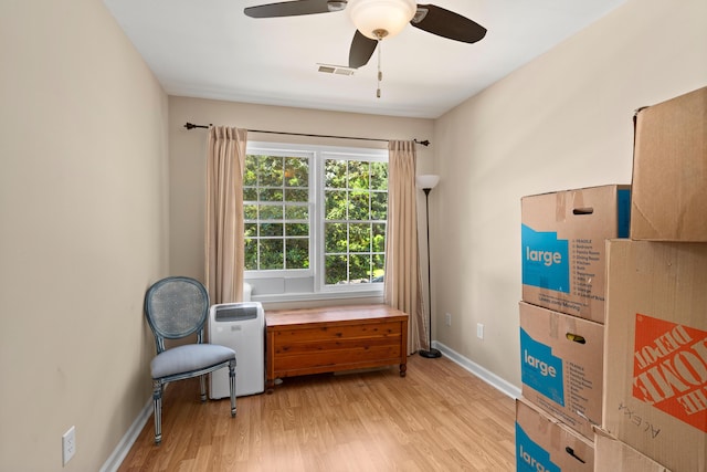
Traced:
[[414, 0], [350, 0], [347, 7], [356, 29], [367, 38], [392, 38], [418, 11]]

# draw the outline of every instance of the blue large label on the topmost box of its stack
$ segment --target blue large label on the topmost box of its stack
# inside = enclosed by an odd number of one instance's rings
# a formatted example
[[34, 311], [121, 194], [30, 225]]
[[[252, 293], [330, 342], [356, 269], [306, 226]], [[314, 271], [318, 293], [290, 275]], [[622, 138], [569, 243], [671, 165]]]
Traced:
[[570, 293], [569, 243], [558, 240], [556, 231], [535, 231], [521, 227], [523, 283]]

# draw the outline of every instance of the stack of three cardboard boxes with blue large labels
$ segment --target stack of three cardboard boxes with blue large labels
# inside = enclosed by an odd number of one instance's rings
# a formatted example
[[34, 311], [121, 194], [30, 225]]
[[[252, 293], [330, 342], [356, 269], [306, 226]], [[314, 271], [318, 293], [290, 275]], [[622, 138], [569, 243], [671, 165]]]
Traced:
[[602, 418], [605, 240], [627, 238], [630, 206], [630, 187], [615, 185], [521, 199], [519, 471], [593, 470], [592, 427]]

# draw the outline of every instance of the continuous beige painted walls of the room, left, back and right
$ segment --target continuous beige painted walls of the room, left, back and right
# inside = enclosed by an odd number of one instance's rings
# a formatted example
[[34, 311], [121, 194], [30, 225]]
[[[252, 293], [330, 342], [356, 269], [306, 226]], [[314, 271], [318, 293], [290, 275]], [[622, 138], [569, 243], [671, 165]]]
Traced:
[[75, 426], [65, 470], [97, 470], [149, 400], [145, 290], [203, 274], [205, 133], [187, 120], [431, 139], [434, 337], [519, 385], [520, 197], [630, 181], [633, 109], [707, 85], [705, 18], [630, 0], [432, 122], [168, 103], [98, 0], [0, 3], [2, 469], [60, 470]]

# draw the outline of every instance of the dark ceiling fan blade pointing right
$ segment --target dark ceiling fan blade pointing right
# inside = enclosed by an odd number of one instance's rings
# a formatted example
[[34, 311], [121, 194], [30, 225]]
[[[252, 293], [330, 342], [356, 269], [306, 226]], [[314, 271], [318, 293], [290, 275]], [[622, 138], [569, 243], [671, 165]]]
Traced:
[[418, 4], [418, 13], [410, 24], [429, 33], [464, 43], [475, 43], [486, 35], [486, 29], [475, 21], [434, 4]]

